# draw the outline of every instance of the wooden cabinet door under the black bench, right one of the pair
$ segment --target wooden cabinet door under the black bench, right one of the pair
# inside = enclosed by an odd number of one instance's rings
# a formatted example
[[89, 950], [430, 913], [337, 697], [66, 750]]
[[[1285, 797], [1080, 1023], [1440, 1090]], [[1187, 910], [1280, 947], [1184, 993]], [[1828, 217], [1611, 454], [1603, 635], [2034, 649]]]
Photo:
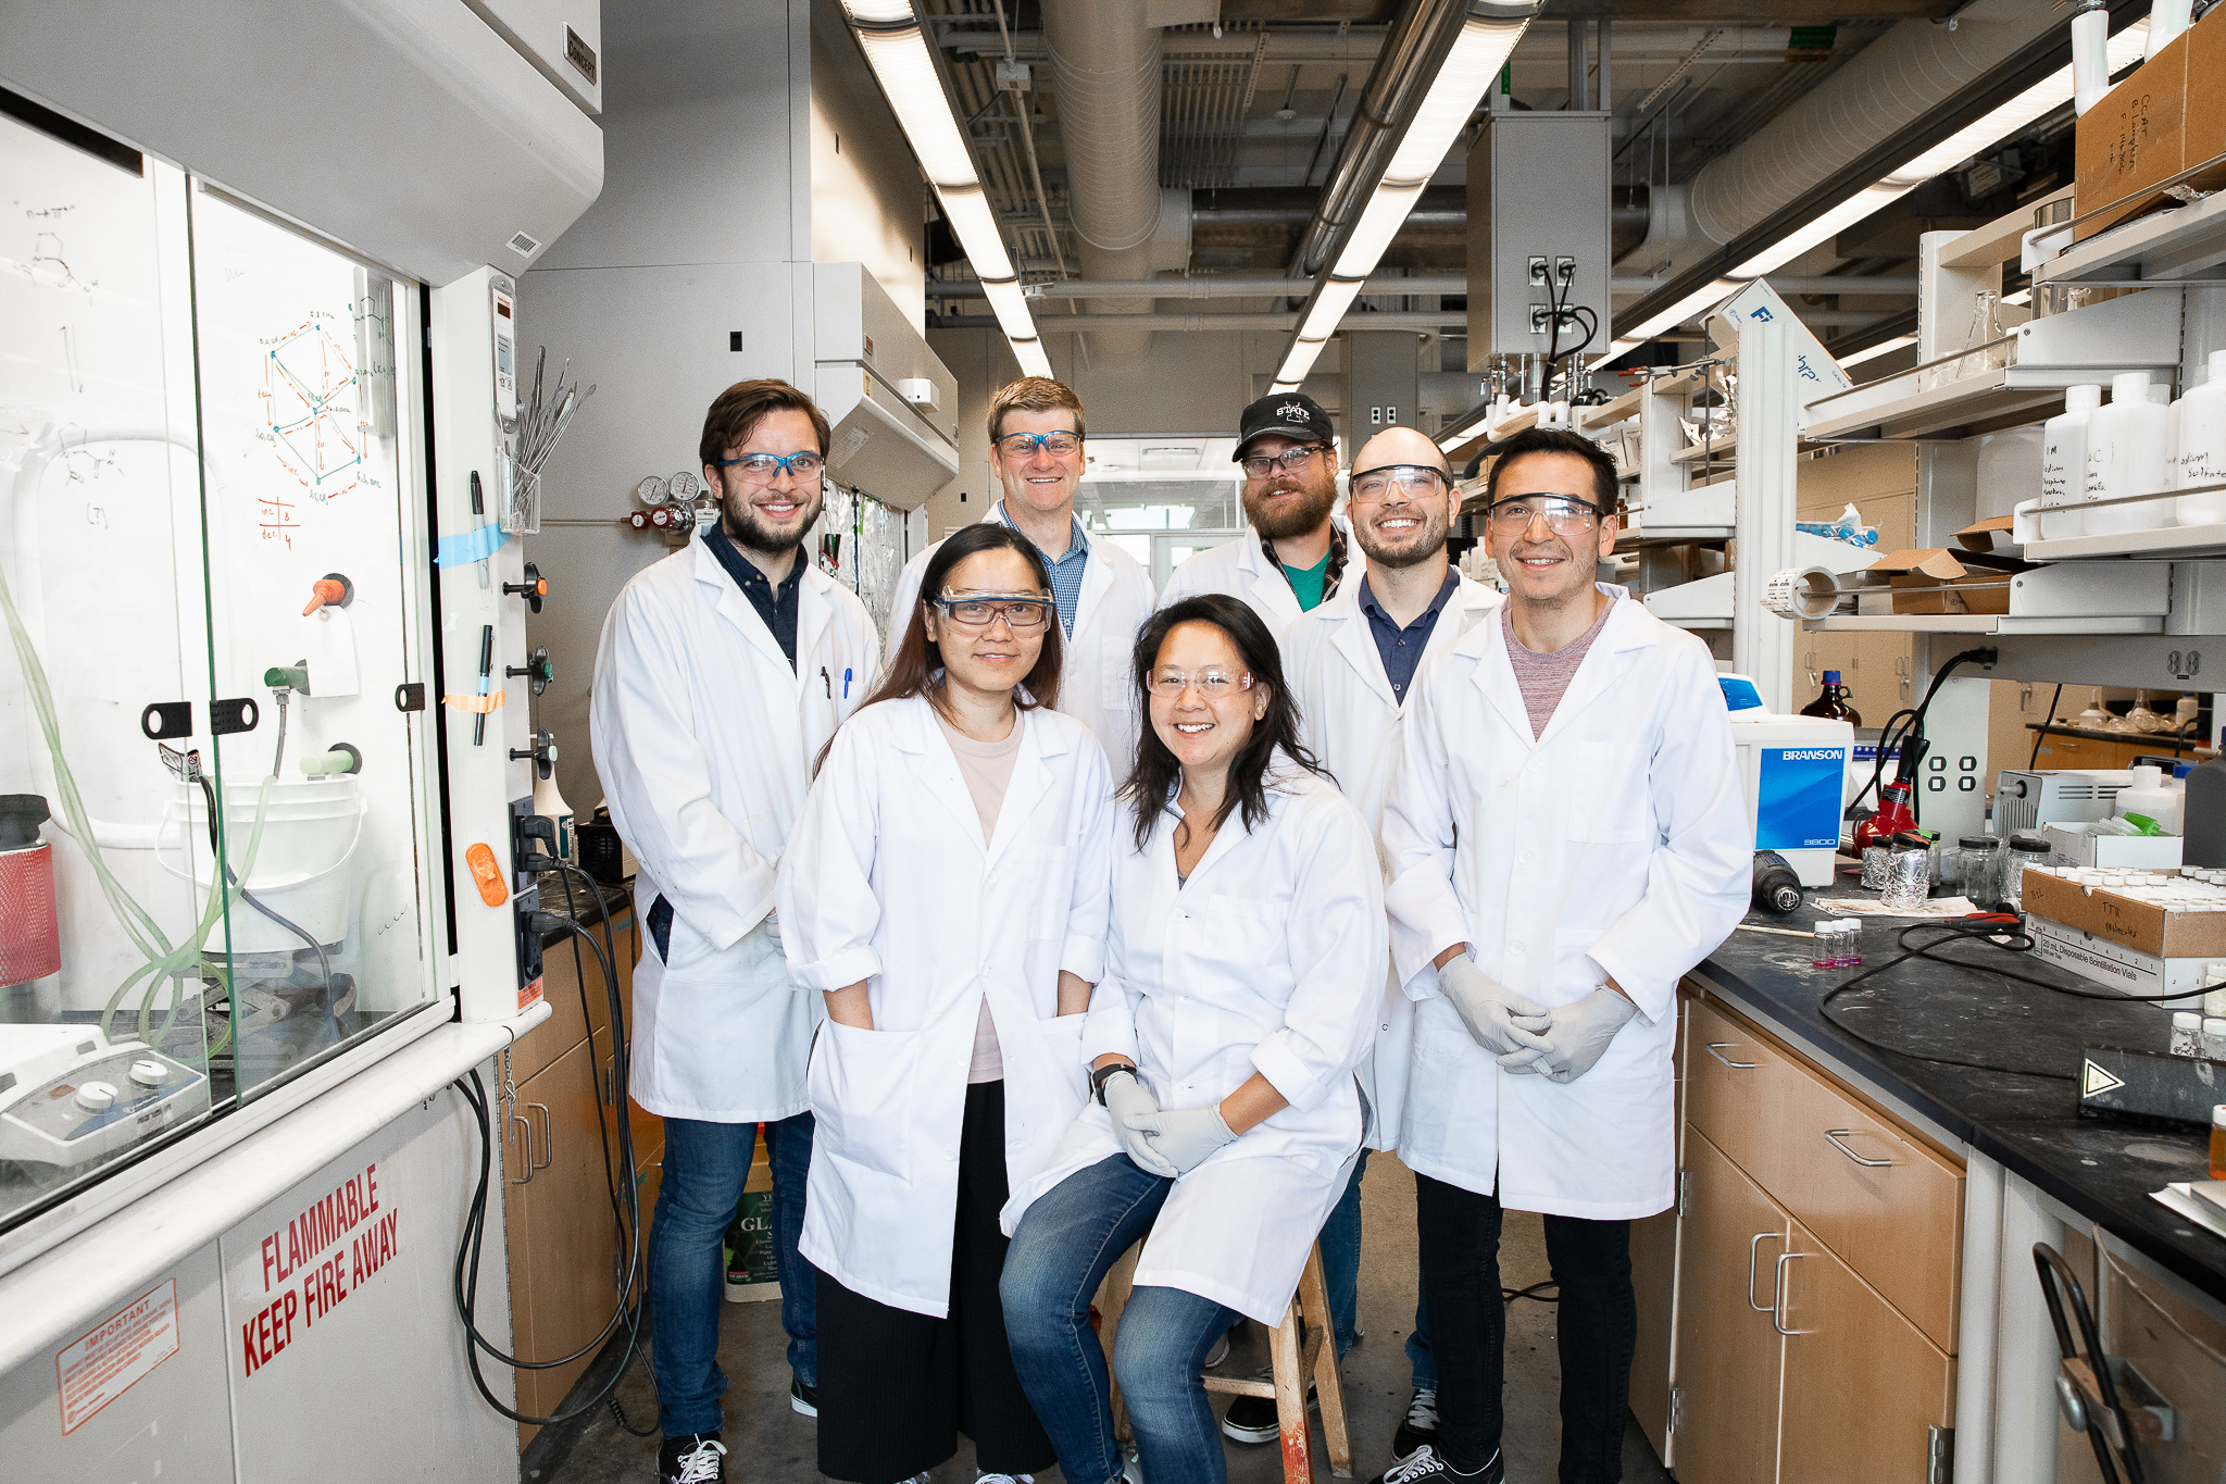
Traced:
[[1932, 1428], [1954, 1422], [1954, 1359], [1799, 1221], [1787, 1253], [1779, 1315], [1796, 1333], [1785, 1339], [1779, 1477], [1928, 1477]]

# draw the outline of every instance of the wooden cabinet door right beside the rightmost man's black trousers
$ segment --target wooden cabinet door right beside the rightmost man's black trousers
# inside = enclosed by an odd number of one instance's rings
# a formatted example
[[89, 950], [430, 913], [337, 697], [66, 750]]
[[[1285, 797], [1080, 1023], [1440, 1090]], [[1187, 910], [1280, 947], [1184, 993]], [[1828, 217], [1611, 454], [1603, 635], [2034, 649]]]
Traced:
[[[1770, 1302], [1770, 1273], [1785, 1250], [1790, 1224], [1698, 1128], [1685, 1130], [1685, 1175], [1676, 1477], [1681, 1484], [1770, 1484], [1779, 1477], [1781, 1339], [1770, 1315], [1754, 1306]], [[1752, 1290], [1750, 1257], [1756, 1259]]]

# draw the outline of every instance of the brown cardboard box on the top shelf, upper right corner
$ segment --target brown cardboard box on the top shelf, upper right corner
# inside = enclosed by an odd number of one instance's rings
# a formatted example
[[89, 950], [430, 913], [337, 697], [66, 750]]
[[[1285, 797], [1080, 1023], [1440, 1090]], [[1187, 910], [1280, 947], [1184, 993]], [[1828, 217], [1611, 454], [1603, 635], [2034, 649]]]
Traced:
[[[2079, 120], [2075, 145], [2072, 229], [2084, 243], [2150, 211], [2177, 205], [2164, 180], [2226, 154], [2226, 7], [2213, 9], [2173, 44], [2112, 87]], [[2195, 189], [2226, 185], [2226, 165], [2186, 180]]]

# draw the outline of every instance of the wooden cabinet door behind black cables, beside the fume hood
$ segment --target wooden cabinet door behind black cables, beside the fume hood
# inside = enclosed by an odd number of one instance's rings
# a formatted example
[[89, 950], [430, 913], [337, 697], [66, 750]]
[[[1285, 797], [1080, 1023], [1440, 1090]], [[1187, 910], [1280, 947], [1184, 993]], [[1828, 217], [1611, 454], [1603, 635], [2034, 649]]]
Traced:
[[[594, 1043], [581, 1041], [548, 1068], [519, 1084], [519, 1112], [532, 1135], [534, 1168], [512, 1166], [508, 1190], [510, 1317], [519, 1355], [554, 1359], [585, 1346], [617, 1304], [612, 1259], [617, 1239], [597, 1137]], [[605, 1110], [605, 1124], [610, 1112]], [[523, 1135], [510, 1139], [521, 1152]], [[519, 1411], [548, 1417], [588, 1368], [590, 1357], [552, 1371], [519, 1371]], [[519, 1426], [523, 1448], [536, 1428]]]

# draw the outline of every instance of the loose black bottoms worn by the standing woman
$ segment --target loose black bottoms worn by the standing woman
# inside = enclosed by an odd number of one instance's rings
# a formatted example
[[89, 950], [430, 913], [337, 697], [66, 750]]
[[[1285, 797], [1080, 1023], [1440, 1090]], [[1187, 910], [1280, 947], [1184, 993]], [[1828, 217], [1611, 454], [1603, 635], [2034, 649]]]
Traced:
[[890, 1308], [819, 1275], [819, 1473], [899, 1484], [975, 1444], [984, 1473], [1037, 1473], [1057, 1451], [1004, 1339], [1004, 1084], [966, 1088], [951, 1317]]

